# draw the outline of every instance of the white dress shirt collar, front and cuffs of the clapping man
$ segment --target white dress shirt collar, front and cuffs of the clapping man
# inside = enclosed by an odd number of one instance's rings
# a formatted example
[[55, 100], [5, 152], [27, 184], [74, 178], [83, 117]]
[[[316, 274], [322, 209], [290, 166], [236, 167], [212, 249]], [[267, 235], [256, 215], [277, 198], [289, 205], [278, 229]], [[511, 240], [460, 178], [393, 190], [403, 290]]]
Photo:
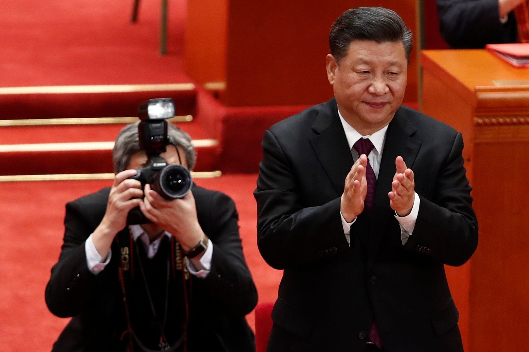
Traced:
[[[369, 153], [367, 157], [369, 159], [369, 165], [371, 165], [371, 168], [375, 173], [375, 177], [378, 179], [380, 161], [382, 160], [382, 150], [384, 150], [384, 143], [386, 142], [386, 131], [388, 129], [388, 125], [384, 126], [382, 129], [376, 131], [372, 135], [362, 136], [357, 130], [355, 130], [351, 125], [349, 125], [347, 121], [345, 121], [342, 114], [340, 113], [340, 110], [338, 110], [338, 116], [340, 116], [340, 121], [342, 122], [345, 137], [347, 138], [349, 149], [351, 149], [351, 154], [353, 156], [354, 161], [356, 161], [359, 157], [357, 151], [353, 149], [353, 145], [355, 144], [355, 142], [357, 142], [357, 140], [359, 140], [360, 138], [369, 138], [369, 140], [373, 144], [374, 148], [371, 150], [371, 153]], [[412, 235], [413, 229], [415, 228], [417, 214], [419, 213], [419, 203], [419, 196], [417, 195], [417, 193], [415, 193], [415, 201], [413, 203], [411, 213], [406, 216], [398, 216], [395, 212], [395, 218], [397, 219], [400, 225], [400, 240], [402, 241], [403, 245], [406, 243], [406, 241], [408, 241], [408, 237]], [[343, 233], [345, 234], [347, 242], [350, 243], [349, 232], [351, 231], [351, 225], [354, 223], [356, 218], [354, 218], [352, 222], [348, 223], [343, 218], [342, 212], [340, 212], [340, 217], [342, 218]]]

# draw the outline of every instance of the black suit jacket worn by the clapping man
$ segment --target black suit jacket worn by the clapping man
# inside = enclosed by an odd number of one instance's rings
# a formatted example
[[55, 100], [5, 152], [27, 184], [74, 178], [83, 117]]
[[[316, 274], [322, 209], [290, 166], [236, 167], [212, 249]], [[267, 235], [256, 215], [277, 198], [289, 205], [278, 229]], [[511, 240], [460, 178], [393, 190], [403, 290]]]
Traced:
[[[284, 269], [270, 351], [362, 351], [373, 316], [387, 352], [461, 351], [458, 311], [444, 265], [477, 246], [461, 134], [400, 107], [389, 123], [373, 217], [346, 242], [340, 196], [353, 159], [336, 101], [265, 131], [254, 196], [263, 258]], [[406, 245], [389, 206], [395, 158], [414, 170], [421, 198]]]

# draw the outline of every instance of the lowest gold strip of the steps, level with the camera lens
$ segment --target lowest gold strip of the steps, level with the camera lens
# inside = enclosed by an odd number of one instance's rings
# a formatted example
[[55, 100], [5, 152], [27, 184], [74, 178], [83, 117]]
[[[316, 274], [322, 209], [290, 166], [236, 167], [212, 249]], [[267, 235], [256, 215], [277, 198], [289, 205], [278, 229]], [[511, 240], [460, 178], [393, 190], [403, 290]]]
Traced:
[[[220, 177], [222, 172], [216, 171], [191, 171], [193, 178]], [[79, 181], [79, 180], [112, 180], [113, 173], [105, 174], [55, 174], [55, 175], [0, 175], [0, 182], [29, 182], [29, 181]]]

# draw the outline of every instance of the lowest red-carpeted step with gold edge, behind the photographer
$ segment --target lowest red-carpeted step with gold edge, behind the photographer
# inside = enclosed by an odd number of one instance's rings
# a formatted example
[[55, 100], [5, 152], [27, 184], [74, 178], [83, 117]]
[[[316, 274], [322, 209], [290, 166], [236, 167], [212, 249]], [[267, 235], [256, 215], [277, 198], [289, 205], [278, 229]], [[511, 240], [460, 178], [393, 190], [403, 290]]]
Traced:
[[[217, 141], [196, 121], [177, 123], [197, 151], [195, 171], [213, 171]], [[0, 175], [112, 173], [112, 147], [125, 124], [0, 127]]]

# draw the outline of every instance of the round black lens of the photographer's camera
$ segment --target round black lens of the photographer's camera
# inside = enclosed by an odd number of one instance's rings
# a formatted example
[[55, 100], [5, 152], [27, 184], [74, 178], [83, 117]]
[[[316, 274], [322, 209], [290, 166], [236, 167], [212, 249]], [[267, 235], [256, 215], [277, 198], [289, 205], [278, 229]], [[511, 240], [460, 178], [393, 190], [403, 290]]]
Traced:
[[191, 173], [179, 164], [168, 165], [160, 172], [158, 179], [160, 194], [168, 199], [184, 198], [193, 186]]

